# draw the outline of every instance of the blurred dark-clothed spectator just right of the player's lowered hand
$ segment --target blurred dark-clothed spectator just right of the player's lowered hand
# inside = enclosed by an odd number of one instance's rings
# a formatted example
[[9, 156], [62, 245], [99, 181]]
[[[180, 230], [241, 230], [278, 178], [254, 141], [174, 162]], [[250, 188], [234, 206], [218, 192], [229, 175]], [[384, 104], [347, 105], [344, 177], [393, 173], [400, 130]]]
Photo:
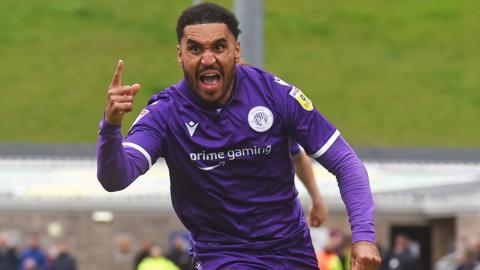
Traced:
[[395, 236], [392, 250], [387, 252], [380, 267], [381, 270], [423, 270], [420, 260], [410, 251], [410, 238], [399, 234]]

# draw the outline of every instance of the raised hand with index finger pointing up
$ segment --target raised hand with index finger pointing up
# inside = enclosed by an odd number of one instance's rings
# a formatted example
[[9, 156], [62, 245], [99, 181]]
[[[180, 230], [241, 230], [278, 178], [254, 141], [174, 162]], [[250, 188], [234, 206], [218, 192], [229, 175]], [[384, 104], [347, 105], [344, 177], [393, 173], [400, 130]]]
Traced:
[[123, 116], [132, 111], [133, 97], [140, 90], [140, 84], [122, 85], [123, 60], [118, 60], [115, 75], [108, 88], [105, 120], [110, 125], [122, 124]]

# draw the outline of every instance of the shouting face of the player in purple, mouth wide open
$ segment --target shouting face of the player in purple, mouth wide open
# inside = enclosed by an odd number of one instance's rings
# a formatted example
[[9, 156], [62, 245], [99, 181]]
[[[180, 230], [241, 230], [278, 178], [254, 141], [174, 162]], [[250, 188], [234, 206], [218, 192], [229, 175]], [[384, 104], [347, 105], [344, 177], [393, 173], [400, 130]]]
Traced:
[[178, 62], [193, 90], [207, 102], [224, 104], [232, 94], [240, 43], [224, 23], [188, 25], [177, 46]]

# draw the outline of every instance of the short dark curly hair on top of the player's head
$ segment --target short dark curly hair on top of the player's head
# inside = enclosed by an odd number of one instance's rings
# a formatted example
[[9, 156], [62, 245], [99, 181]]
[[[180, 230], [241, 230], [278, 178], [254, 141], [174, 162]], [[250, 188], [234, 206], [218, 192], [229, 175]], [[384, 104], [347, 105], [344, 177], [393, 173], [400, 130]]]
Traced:
[[235, 40], [238, 39], [240, 29], [238, 20], [232, 12], [222, 6], [213, 3], [201, 3], [185, 9], [177, 21], [178, 42], [183, 37], [183, 29], [188, 25], [204, 23], [224, 23], [228, 30], [233, 34]]

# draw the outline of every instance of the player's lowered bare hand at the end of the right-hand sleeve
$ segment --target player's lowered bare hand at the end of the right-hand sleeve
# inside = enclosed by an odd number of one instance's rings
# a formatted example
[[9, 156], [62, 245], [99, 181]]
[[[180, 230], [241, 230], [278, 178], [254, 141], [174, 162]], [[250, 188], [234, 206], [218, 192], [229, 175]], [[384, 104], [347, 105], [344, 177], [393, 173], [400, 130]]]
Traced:
[[351, 270], [378, 270], [381, 262], [380, 253], [374, 243], [358, 241], [352, 245]]

